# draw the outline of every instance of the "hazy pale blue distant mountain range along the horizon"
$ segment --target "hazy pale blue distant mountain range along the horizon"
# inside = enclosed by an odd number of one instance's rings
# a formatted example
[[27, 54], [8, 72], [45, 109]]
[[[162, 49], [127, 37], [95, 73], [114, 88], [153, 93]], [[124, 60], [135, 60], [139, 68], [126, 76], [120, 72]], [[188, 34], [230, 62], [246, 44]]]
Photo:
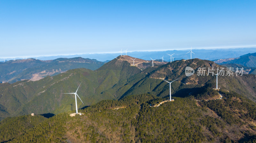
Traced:
[[[117, 51], [119, 51], [118, 49]], [[127, 52], [127, 55], [143, 59], [143, 60], [150, 60], [152, 59], [159, 59], [164, 56], [165, 61], [170, 61], [171, 57], [167, 54], [173, 54], [174, 60], [181, 60], [181, 59], [190, 59], [190, 54], [186, 54], [188, 50], [167, 50], [167, 51], [139, 51], [139, 52]], [[192, 54], [192, 58], [199, 58], [203, 60], [215, 60], [215, 59], [225, 59], [225, 58], [234, 58], [239, 57], [241, 55], [247, 53], [254, 53], [256, 52], [256, 48], [233, 48], [233, 49], [193, 49], [192, 51], [195, 54]], [[74, 57], [83, 57], [83, 58], [90, 58], [96, 59], [98, 61], [108, 61], [116, 58], [119, 56], [120, 53], [102, 53], [102, 54], [75, 54], [75, 55], [57, 55], [57, 56], [40, 56], [37, 57], [40, 60], [53, 60], [57, 58], [74, 58]], [[36, 58], [36, 57], [32, 57]], [[16, 58], [17, 59], [17, 58]], [[20, 58], [22, 59], [22, 58]], [[14, 60], [14, 59], [5, 59], [5, 60]], [[0, 61], [4, 62], [4, 59], [0, 58]]]

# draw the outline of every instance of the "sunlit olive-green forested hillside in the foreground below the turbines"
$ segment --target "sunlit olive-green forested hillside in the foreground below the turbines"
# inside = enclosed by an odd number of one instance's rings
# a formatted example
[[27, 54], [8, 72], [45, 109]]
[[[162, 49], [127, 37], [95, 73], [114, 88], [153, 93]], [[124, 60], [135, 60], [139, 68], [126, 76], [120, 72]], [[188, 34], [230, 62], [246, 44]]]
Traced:
[[[46, 119], [8, 141], [22, 142], [253, 142], [256, 104], [234, 92], [222, 100], [197, 102], [192, 96], [163, 101], [150, 94], [105, 100], [85, 108], [83, 115], [64, 112]], [[117, 107], [125, 107], [113, 110]]]

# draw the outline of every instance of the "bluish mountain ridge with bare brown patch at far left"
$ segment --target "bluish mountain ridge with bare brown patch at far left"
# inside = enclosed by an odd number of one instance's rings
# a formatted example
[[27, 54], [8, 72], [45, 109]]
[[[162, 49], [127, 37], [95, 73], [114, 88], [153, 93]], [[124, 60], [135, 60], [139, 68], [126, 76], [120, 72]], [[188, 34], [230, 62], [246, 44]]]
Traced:
[[58, 75], [69, 69], [88, 68], [95, 70], [103, 64], [104, 62], [95, 59], [81, 57], [59, 58], [48, 61], [36, 59], [11, 60], [0, 62], [0, 82], [14, 83], [25, 79], [37, 81], [48, 75]]

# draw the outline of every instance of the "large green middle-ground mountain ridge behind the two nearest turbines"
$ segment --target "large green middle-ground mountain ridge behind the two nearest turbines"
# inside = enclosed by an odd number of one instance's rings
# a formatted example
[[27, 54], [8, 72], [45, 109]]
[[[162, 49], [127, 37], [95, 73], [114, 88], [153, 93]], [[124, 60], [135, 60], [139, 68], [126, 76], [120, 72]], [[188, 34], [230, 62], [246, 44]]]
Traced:
[[[78, 108], [84, 108], [105, 99], [121, 99], [127, 95], [150, 93], [157, 97], [166, 97], [169, 95], [169, 84], [160, 78], [167, 80], [180, 78], [172, 83], [174, 97], [192, 95], [197, 100], [218, 97], [218, 93], [212, 89], [216, 87], [216, 76], [194, 74], [187, 77], [185, 75], [187, 66], [195, 71], [200, 67], [207, 69], [222, 67], [212, 61], [180, 60], [154, 65], [154, 67], [151, 67], [152, 63], [146, 62], [142, 63], [145, 64], [144, 67], [148, 67], [144, 70], [131, 66], [131, 62], [119, 56], [95, 71], [79, 68], [56, 76], [47, 76], [39, 81], [1, 83], [0, 117], [3, 119], [32, 112], [58, 114], [74, 110], [74, 95], [63, 93], [75, 92], [81, 82], [77, 93], [84, 105], [78, 101]], [[162, 62], [159, 63], [162, 64]], [[256, 76], [250, 74], [220, 76], [218, 84], [221, 89], [235, 91], [255, 102], [255, 80]]]

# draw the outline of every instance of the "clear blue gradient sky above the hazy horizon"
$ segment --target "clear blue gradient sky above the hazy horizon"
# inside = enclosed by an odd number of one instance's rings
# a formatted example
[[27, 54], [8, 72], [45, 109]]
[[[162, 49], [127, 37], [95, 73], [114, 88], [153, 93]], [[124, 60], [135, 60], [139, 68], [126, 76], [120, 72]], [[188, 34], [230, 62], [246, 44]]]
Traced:
[[256, 1], [0, 0], [0, 57], [256, 45]]

